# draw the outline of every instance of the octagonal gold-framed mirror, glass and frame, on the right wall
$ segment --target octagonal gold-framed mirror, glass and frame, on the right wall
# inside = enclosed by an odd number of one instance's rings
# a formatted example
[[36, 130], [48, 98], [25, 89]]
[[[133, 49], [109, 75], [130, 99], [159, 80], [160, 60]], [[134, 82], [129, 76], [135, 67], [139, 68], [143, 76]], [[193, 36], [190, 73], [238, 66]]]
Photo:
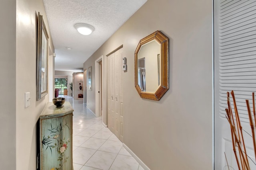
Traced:
[[135, 50], [135, 88], [141, 98], [160, 100], [169, 89], [169, 39], [156, 31]]

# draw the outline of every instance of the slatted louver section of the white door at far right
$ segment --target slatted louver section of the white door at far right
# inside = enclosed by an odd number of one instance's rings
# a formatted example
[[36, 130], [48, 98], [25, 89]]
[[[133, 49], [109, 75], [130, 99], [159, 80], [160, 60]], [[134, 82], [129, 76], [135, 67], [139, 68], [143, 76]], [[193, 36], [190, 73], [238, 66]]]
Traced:
[[252, 106], [252, 92], [256, 92], [256, 1], [221, 0], [218, 12], [219, 65], [215, 69], [219, 69], [220, 116], [226, 115], [226, 92], [234, 90], [240, 120], [249, 122], [245, 100]]

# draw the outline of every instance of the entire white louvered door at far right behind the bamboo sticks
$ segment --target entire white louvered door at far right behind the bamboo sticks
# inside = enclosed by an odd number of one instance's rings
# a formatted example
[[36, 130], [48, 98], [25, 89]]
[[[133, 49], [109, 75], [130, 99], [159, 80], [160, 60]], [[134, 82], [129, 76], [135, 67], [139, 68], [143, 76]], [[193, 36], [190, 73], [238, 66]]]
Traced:
[[[253, 163], [255, 156], [250, 136], [252, 133], [245, 102], [246, 99], [249, 100], [252, 110], [252, 92], [256, 92], [255, 23], [255, 0], [214, 1], [214, 169], [216, 170], [238, 170], [230, 125], [225, 117], [225, 108], [228, 108], [226, 92], [231, 90], [234, 90], [236, 97], [250, 169], [256, 169]], [[231, 104], [234, 108], [232, 98]], [[234, 119], [236, 120], [235, 116]], [[238, 153], [238, 148], [236, 150]], [[227, 166], [227, 162], [230, 167]]]

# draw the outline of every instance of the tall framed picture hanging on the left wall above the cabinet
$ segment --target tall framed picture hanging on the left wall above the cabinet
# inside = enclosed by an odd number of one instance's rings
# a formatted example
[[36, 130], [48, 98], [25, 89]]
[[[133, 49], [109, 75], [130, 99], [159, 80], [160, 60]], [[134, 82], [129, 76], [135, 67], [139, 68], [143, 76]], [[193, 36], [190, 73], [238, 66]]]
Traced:
[[43, 16], [38, 12], [37, 57], [36, 57], [36, 100], [48, 94], [48, 33]]

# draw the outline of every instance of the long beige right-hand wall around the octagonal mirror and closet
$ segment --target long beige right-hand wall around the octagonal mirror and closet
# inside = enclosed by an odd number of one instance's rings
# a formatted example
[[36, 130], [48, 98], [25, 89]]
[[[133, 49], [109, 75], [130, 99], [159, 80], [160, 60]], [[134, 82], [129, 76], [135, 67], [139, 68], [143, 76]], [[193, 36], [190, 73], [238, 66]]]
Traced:
[[[134, 88], [134, 51], [156, 30], [170, 39], [170, 89], [160, 101]], [[84, 63], [93, 84], [95, 60], [103, 55], [106, 84], [106, 54], [122, 44], [124, 144], [152, 170], [212, 169], [212, 0], [148, 0]], [[94, 89], [87, 98], [93, 111]]]

